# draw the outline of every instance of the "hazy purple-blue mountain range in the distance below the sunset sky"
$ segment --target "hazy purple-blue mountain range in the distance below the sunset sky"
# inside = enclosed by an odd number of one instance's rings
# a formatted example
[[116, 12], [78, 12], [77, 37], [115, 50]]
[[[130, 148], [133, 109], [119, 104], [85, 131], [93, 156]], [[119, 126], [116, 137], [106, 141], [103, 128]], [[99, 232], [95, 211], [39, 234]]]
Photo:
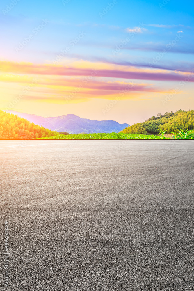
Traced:
[[16, 114], [19, 117], [25, 118], [34, 124], [43, 125], [43, 127], [68, 133], [111, 133], [120, 132], [125, 127], [128, 127], [127, 123], [118, 123], [114, 120], [90, 120], [81, 118], [74, 114], [61, 115], [57, 117], [42, 117], [34, 114], [22, 113], [13, 110], [5, 110], [12, 114]]

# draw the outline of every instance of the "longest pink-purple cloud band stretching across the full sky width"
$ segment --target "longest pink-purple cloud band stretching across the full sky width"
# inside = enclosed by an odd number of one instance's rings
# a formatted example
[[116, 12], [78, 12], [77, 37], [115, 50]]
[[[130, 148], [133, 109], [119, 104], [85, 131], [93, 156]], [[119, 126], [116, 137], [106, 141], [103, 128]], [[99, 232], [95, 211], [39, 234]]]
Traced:
[[[188, 81], [193, 82], [193, 75], [188, 73], [180, 74], [175, 72], [158, 72], [158, 71], [124, 71], [111, 69], [89, 69], [89, 68], [67, 68], [64, 66], [55, 65], [33, 65], [30, 63], [13, 63], [0, 62], [0, 67], [3, 72], [11, 72], [16, 74], [34, 74], [34, 75], [56, 75], [56, 76], [95, 76], [95, 77], [112, 77], [123, 79], [139, 79], [139, 80], [154, 80], [154, 81], [182, 81], [188, 78]], [[191, 76], [191, 77], [190, 77]]]

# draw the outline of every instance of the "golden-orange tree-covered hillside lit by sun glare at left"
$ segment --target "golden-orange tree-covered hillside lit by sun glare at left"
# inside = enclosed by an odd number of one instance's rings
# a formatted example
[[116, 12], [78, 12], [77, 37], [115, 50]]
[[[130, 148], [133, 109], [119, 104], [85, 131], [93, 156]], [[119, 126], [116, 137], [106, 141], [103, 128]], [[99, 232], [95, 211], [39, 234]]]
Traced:
[[36, 139], [58, 134], [17, 115], [0, 110], [0, 139]]

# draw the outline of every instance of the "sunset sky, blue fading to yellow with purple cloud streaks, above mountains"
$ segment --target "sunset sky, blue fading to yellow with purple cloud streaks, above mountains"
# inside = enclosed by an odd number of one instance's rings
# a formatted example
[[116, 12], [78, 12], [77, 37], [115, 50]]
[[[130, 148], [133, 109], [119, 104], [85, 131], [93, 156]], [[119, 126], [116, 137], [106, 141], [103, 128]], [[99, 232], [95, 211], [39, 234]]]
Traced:
[[[191, 9], [180, 18], [170, 2], [155, 4], [145, 16], [141, 2], [133, 4], [135, 17], [128, 1], [115, 1], [107, 13], [104, 1], [92, 10], [79, 1], [47, 9], [36, 2], [8, 12], [1, 4], [1, 110], [134, 123], [193, 107], [193, 19], [185, 17]], [[105, 114], [110, 100], [117, 105]]]

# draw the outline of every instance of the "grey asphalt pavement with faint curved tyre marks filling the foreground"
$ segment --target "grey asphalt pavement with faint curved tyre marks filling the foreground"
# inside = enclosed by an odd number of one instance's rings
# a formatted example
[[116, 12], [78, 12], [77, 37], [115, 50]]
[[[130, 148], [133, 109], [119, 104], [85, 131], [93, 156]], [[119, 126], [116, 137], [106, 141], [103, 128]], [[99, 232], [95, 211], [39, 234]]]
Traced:
[[0, 162], [1, 290], [194, 290], [194, 141], [0, 141]]

